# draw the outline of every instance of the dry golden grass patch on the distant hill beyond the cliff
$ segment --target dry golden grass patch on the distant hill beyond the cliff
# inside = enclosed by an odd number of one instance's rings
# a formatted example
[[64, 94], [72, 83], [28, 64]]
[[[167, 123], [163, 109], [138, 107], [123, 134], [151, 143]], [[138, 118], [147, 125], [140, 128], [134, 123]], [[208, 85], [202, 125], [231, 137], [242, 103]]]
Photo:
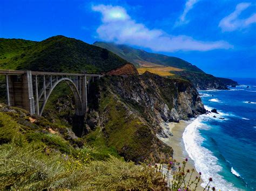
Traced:
[[143, 74], [146, 71], [149, 71], [153, 74], [158, 74], [160, 76], [172, 76], [174, 74], [171, 74], [170, 71], [183, 71], [183, 69], [180, 68], [174, 68], [174, 67], [153, 67], [153, 68], [137, 68], [139, 74]]

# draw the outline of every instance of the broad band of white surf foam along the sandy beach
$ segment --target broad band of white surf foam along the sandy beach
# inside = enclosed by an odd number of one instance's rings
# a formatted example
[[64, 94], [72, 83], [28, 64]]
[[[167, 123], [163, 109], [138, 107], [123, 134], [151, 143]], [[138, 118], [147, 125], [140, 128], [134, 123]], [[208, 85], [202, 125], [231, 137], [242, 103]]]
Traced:
[[199, 129], [211, 128], [202, 123], [207, 118], [208, 115], [201, 115], [186, 127], [183, 133], [185, 149], [194, 161], [197, 171], [202, 173], [201, 178], [204, 182], [201, 186], [205, 187], [208, 178], [212, 177], [213, 182], [210, 183], [211, 186], [221, 190], [237, 190], [237, 188], [233, 187], [232, 183], [227, 182], [223, 176], [218, 174], [222, 170], [222, 167], [218, 165], [218, 158], [210, 150], [201, 146], [205, 139], [201, 137]]

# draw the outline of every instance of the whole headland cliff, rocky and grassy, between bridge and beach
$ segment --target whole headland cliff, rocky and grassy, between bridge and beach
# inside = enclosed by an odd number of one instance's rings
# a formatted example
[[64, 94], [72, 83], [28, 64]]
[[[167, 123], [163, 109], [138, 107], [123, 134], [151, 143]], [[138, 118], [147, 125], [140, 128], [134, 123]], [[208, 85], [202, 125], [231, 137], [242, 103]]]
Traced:
[[170, 136], [165, 131], [166, 122], [205, 112], [197, 90], [186, 80], [146, 72], [104, 77], [97, 83], [87, 124], [91, 129], [100, 127], [107, 145], [126, 160], [167, 160], [173, 150], [159, 139]]

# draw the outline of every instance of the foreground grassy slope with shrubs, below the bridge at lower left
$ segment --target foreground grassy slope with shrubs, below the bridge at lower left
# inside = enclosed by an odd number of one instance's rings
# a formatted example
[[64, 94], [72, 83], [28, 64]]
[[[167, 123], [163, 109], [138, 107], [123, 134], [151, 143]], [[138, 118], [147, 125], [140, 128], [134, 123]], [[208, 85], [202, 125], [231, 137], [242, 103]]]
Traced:
[[[0, 189], [163, 189], [153, 169], [110, 157], [65, 126], [0, 105]], [[107, 151], [105, 151], [107, 152]]]

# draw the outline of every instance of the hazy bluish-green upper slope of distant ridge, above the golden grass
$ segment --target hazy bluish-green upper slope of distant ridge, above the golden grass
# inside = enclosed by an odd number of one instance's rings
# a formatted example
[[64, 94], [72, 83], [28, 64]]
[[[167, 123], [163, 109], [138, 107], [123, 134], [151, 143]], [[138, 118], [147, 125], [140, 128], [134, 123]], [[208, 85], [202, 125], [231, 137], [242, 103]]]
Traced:
[[93, 45], [106, 48], [109, 51], [119, 55], [121, 58], [131, 62], [134, 66], [140, 66], [142, 63], [152, 63], [157, 65], [171, 66], [193, 72], [204, 73], [203, 70], [192, 65], [191, 63], [174, 56], [163, 54], [149, 53], [142, 49], [132, 48], [127, 45], [117, 45], [114, 43], [104, 43], [96, 41]]

